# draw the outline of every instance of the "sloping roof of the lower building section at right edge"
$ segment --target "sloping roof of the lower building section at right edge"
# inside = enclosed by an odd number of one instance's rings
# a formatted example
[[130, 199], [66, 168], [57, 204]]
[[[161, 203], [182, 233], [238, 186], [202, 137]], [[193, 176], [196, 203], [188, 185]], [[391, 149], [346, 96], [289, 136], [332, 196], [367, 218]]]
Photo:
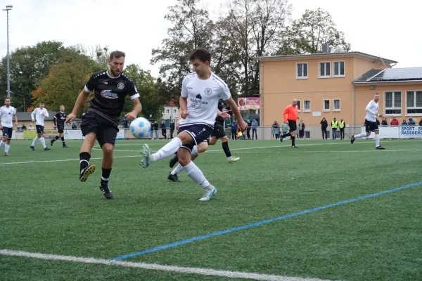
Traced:
[[353, 84], [376, 84], [392, 82], [422, 82], [422, 67], [386, 68], [374, 70], [373, 68], [353, 80]]

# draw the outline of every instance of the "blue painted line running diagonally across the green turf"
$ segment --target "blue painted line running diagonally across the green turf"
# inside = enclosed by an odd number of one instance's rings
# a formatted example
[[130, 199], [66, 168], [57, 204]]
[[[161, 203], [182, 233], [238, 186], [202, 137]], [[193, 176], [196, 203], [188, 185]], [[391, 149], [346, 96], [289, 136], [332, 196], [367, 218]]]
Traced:
[[215, 233], [210, 233], [210, 234], [207, 234], [207, 235], [192, 237], [192, 238], [189, 238], [189, 239], [186, 239], [186, 240], [181, 240], [181, 241], [178, 241], [178, 242], [165, 244], [165, 245], [162, 245], [162, 246], [159, 246], [159, 247], [146, 249], [146, 250], [143, 250], [143, 251], [137, 251], [136, 253], [125, 254], [123, 256], [117, 256], [117, 258], [113, 258], [113, 259], [110, 259], [110, 260], [111, 261], [121, 261], [122, 259], [132, 258], [133, 256], [141, 256], [143, 254], [149, 254], [149, 253], [153, 253], [154, 251], [161, 251], [161, 250], [164, 250], [164, 249], [177, 247], [177, 246], [180, 246], [180, 245], [183, 245], [183, 244], [188, 244], [188, 243], [191, 243], [191, 242], [194, 242], [194, 241], [203, 240], [203, 239], [207, 239], [207, 238], [210, 238], [210, 237], [224, 235], [226, 233], [233, 233], [233, 232], [238, 231], [238, 230], [253, 228], [255, 226], [261, 226], [265, 223], [272, 223], [274, 221], [280, 221], [280, 220], [283, 220], [285, 218], [293, 218], [295, 216], [309, 214], [309, 213], [312, 213], [314, 211], [324, 210], [324, 209], [328, 209], [328, 208], [331, 208], [331, 207], [340, 206], [340, 205], [343, 205], [343, 204], [352, 203], [352, 202], [356, 202], [356, 201], [359, 201], [359, 200], [364, 200], [366, 198], [376, 197], [378, 195], [383, 195], [383, 194], [386, 194], [386, 193], [395, 192], [397, 190], [403, 190], [405, 188], [411, 188], [411, 187], [414, 187], [414, 186], [417, 186], [417, 185], [422, 185], [422, 181], [419, 182], [419, 183], [411, 183], [409, 185], [403, 185], [403, 186], [400, 186], [399, 188], [392, 188], [390, 190], [384, 190], [384, 191], [376, 192], [376, 193], [373, 193], [373, 194], [370, 194], [370, 195], [364, 195], [364, 196], [356, 197], [356, 198], [353, 198], [353, 199], [350, 199], [350, 200], [344, 200], [344, 201], [340, 201], [340, 202], [337, 202], [337, 203], [328, 204], [328, 205], [324, 205], [324, 206], [321, 206], [321, 207], [316, 207], [314, 209], [307, 209], [305, 211], [299, 211], [297, 213], [288, 214], [288, 215], [285, 215], [285, 216], [279, 216], [277, 218], [269, 218], [269, 219], [264, 220], [264, 221], [258, 221], [257, 223], [245, 224], [244, 226], [238, 226], [236, 228], [230, 228], [230, 229], [227, 229], [227, 230], [221, 230], [221, 231], [217, 231]]

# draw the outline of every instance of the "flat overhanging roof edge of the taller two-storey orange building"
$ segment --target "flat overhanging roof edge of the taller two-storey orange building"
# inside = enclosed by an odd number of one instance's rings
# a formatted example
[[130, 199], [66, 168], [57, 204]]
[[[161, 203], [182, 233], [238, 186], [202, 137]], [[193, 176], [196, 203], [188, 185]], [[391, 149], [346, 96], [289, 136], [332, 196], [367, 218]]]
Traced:
[[271, 55], [265, 57], [255, 57], [255, 60], [262, 61], [275, 61], [275, 60], [298, 60], [302, 58], [364, 58], [366, 60], [375, 60], [384, 63], [397, 63], [395, 60], [389, 60], [388, 58], [381, 58], [376, 55], [369, 55], [368, 53], [362, 52], [343, 52], [343, 53], [308, 53], [304, 55]]

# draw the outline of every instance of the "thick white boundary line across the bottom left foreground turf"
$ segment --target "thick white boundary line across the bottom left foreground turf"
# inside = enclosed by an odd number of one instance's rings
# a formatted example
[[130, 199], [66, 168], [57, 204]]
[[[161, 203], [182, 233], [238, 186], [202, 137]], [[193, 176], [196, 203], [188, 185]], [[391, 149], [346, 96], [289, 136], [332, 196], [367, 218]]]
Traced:
[[322, 280], [317, 278], [301, 278], [301, 277], [288, 277], [281, 275], [267, 275], [259, 273], [245, 273], [245, 272], [236, 272], [229, 270], [215, 270], [210, 268], [186, 268], [180, 266], [163, 266], [156, 263], [134, 263], [129, 261], [111, 261], [108, 259], [94, 259], [94, 258], [84, 258], [78, 256], [61, 256], [54, 254], [40, 254], [40, 253], [31, 253], [29, 251], [13, 251], [8, 249], [0, 249], [0, 254], [4, 256], [24, 256], [27, 258], [34, 259], [46, 259], [49, 261], [72, 261], [76, 263], [94, 263], [94, 264], [103, 264], [106, 266], [121, 266], [127, 268], [143, 268], [143, 269], [152, 269], [152, 270], [162, 270], [170, 271], [174, 273], [191, 273], [198, 275], [211, 275], [219, 277], [229, 277], [229, 278], [243, 278], [243, 279], [252, 279], [252, 280], [269, 280], [269, 281], [330, 281]]

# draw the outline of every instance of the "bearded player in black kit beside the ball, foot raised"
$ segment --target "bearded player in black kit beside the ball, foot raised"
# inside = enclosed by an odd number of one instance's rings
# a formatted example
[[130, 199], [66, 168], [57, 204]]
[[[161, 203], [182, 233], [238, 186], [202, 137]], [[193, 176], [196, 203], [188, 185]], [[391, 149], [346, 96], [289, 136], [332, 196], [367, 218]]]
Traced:
[[130, 121], [135, 119], [142, 109], [134, 81], [122, 73], [124, 56], [125, 54], [121, 51], [110, 53], [109, 69], [92, 74], [85, 88], [79, 93], [72, 113], [65, 121], [70, 123], [75, 119], [89, 93], [94, 91], [94, 98], [90, 101], [81, 122], [81, 131], [85, 138], [79, 150], [79, 181], [87, 181], [88, 176], [96, 169], [95, 165], [89, 164], [89, 159], [91, 158], [91, 149], [95, 141], [98, 141], [103, 150], [100, 190], [107, 199], [113, 198], [113, 192], [108, 187], [108, 178], [113, 165], [113, 149], [119, 131], [117, 125], [123, 110], [124, 98], [130, 96], [134, 104], [132, 112], [124, 115]]

